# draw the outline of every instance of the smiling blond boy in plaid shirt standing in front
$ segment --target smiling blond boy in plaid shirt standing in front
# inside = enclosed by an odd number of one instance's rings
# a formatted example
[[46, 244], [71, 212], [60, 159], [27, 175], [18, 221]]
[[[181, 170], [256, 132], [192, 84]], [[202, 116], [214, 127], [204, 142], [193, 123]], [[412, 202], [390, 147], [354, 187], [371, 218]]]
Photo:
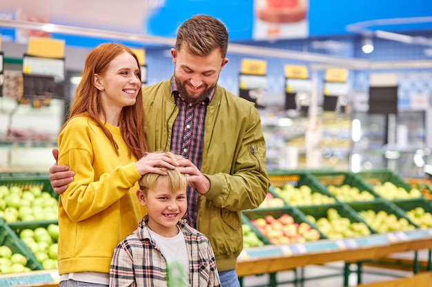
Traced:
[[160, 169], [166, 176], [146, 173], [139, 180], [137, 198], [148, 215], [115, 248], [110, 286], [220, 286], [209, 240], [181, 219], [188, 176], [179, 167]]

